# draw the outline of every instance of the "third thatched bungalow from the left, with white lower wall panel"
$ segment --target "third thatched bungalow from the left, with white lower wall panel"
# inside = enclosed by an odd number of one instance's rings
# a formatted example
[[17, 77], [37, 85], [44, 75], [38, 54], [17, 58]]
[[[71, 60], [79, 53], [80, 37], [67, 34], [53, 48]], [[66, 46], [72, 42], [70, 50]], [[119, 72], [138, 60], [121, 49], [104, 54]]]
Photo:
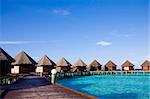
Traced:
[[50, 73], [56, 65], [47, 55], [44, 55], [37, 63], [36, 72], [43, 74]]

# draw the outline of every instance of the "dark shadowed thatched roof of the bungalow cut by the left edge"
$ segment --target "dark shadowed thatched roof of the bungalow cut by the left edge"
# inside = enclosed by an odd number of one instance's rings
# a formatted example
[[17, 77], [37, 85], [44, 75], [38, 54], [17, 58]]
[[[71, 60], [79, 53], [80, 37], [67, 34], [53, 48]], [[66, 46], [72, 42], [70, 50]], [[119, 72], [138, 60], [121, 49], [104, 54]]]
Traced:
[[8, 61], [8, 62], [14, 62], [15, 60], [6, 53], [2, 48], [0, 48], [0, 60]]

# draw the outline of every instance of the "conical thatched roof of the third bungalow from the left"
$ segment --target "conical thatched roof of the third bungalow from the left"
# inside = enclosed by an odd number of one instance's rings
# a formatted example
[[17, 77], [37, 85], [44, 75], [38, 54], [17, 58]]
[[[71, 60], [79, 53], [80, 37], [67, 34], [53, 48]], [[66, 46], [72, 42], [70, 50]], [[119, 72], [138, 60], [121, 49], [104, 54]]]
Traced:
[[47, 56], [44, 55], [38, 62], [38, 66], [55, 66], [56, 64]]

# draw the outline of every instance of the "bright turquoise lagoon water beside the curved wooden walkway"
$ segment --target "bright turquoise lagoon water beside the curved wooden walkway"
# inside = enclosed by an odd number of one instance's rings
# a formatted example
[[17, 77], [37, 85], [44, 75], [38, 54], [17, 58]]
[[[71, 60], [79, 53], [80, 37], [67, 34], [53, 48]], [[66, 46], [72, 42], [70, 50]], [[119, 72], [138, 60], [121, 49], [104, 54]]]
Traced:
[[97, 75], [67, 78], [58, 83], [100, 99], [150, 99], [150, 76]]

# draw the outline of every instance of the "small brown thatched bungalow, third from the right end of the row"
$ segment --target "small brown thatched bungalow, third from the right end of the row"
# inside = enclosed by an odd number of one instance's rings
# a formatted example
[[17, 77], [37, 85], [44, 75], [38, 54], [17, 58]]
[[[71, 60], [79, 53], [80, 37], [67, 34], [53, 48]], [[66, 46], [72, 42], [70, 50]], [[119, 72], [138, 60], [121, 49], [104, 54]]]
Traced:
[[117, 65], [112, 62], [111, 60], [109, 60], [105, 66], [104, 66], [104, 70], [105, 71], [115, 71], [116, 70]]

